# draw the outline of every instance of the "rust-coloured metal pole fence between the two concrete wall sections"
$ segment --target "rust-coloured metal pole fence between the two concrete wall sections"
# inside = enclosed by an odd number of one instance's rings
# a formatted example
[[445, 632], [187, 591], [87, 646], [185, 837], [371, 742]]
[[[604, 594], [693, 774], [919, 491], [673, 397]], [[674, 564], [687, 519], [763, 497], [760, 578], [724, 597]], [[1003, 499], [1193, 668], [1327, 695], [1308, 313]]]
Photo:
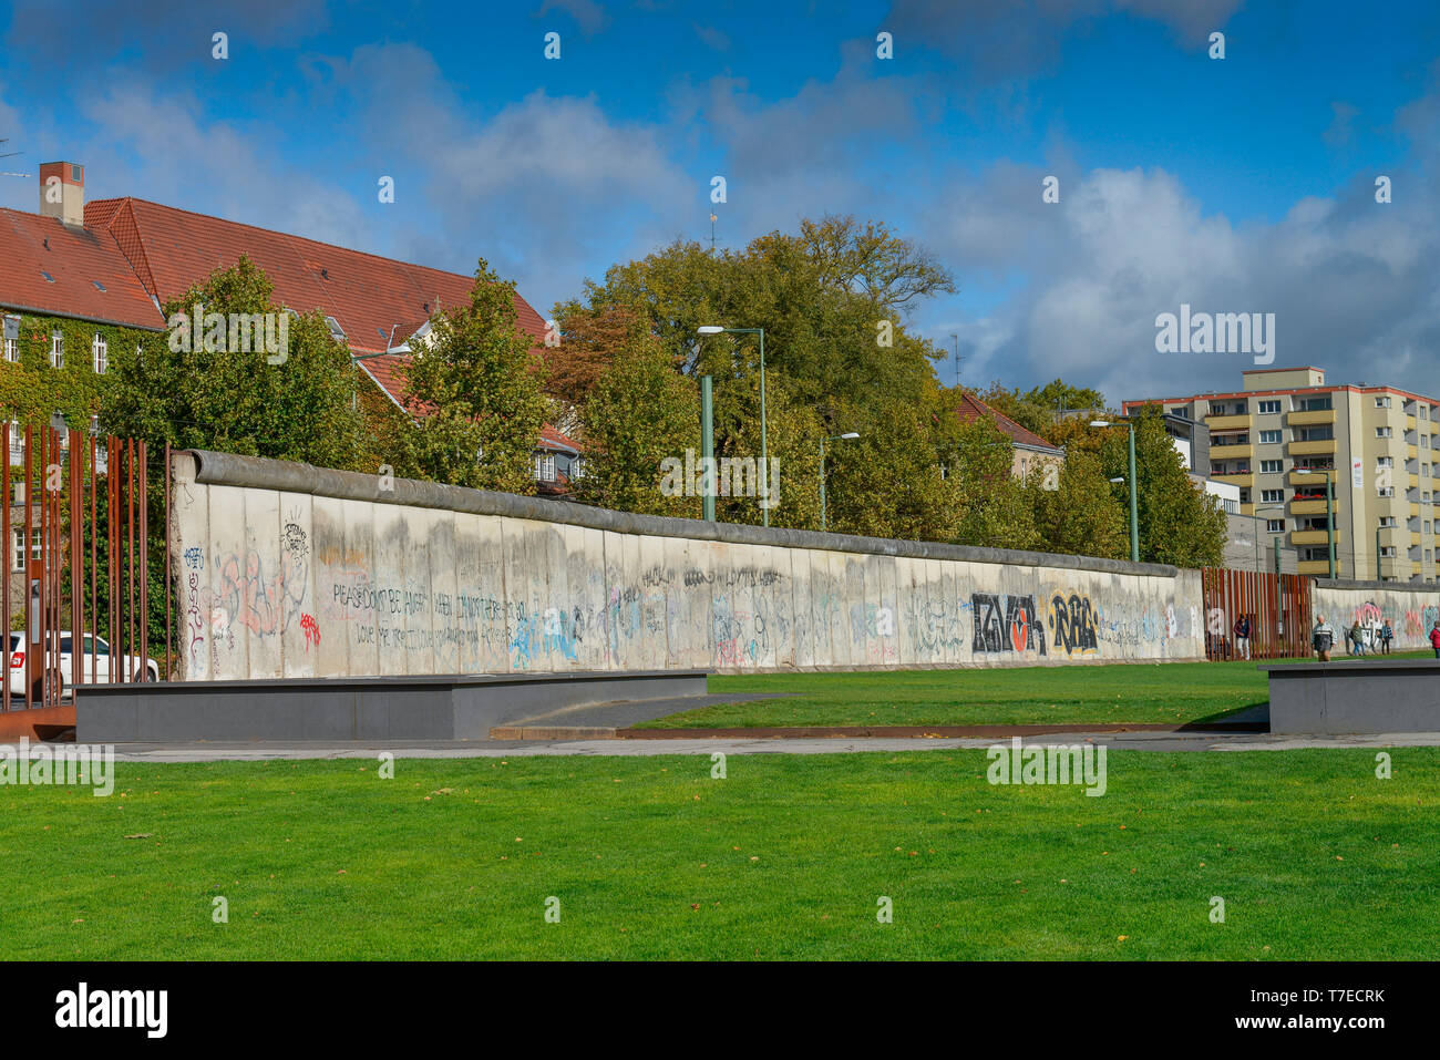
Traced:
[[[1204, 567], [1205, 658], [1292, 658], [1310, 654], [1310, 579]], [[1248, 637], [1241, 621], [1248, 621]]]

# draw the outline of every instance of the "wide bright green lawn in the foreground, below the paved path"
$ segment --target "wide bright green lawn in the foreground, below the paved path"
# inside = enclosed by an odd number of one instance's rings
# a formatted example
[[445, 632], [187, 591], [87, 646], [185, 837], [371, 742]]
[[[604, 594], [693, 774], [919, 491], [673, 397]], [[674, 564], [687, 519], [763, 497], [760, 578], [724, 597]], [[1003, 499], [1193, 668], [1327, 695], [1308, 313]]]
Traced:
[[1433, 959], [1440, 749], [1392, 755], [1116, 752], [1102, 798], [982, 750], [121, 765], [0, 788], [0, 952]]

